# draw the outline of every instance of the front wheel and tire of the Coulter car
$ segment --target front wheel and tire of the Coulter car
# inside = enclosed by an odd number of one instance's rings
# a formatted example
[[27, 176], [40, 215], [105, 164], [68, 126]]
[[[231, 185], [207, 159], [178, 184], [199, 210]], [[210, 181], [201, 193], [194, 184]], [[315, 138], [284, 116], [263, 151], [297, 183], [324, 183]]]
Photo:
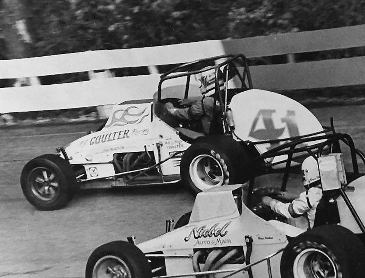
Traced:
[[39, 210], [61, 209], [76, 191], [70, 164], [54, 154], [30, 160], [20, 175], [20, 185], [28, 202]]

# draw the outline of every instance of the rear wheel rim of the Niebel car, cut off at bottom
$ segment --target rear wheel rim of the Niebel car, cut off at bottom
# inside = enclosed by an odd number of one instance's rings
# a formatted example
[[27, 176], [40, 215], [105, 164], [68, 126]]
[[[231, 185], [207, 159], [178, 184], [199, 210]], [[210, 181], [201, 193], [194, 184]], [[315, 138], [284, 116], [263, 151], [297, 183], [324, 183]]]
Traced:
[[294, 278], [341, 278], [337, 264], [326, 252], [316, 248], [301, 251], [293, 263]]

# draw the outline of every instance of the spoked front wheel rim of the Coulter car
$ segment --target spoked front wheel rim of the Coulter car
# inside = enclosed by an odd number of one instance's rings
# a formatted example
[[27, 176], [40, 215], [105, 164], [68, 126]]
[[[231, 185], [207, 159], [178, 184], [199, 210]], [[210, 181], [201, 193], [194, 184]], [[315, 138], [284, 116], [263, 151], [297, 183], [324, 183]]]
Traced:
[[58, 176], [49, 168], [37, 167], [32, 169], [27, 182], [32, 194], [42, 201], [53, 201], [59, 194]]

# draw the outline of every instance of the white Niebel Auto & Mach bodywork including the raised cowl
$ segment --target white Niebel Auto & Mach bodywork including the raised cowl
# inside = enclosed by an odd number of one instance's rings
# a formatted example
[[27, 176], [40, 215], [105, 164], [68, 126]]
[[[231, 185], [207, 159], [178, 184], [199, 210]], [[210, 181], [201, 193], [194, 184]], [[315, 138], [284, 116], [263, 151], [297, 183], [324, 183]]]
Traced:
[[[213, 250], [241, 246], [244, 254], [247, 254], [245, 236], [253, 239], [251, 262], [260, 260], [285, 247], [288, 241], [281, 229], [256, 216], [244, 204], [242, 213], [239, 214], [231, 191], [237, 187], [240, 186], [212, 188], [212, 190], [197, 194], [192, 219], [187, 225], [139, 243], [138, 248], [144, 253], [162, 251], [164, 255], [190, 255], [188, 258], [165, 258], [166, 274], [178, 275], [194, 272], [191, 256], [200, 249]], [[209, 200], [215, 200], [215, 202], [211, 202], [209, 207], [206, 207], [206, 212], [201, 213]], [[274, 256], [270, 261], [273, 277], [279, 277], [280, 255]], [[221, 269], [238, 269], [245, 265], [225, 264]], [[203, 269], [204, 264], [200, 266]], [[265, 262], [253, 267], [252, 271], [254, 277], [268, 277]], [[216, 276], [223, 277], [224, 275], [216, 274]], [[234, 277], [242, 277], [242, 272]], [[248, 277], [247, 272], [243, 274], [243, 277]]]

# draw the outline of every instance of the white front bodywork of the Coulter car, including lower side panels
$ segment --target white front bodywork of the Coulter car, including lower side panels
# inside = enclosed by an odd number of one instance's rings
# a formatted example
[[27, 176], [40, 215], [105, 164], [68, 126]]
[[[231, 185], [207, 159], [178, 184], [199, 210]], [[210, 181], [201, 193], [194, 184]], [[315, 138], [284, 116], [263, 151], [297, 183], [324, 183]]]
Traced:
[[[115, 153], [143, 152], [146, 148], [154, 152], [155, 158], [164, 160], [187, 149], [190, 144], [181, 140], [173, 127], [156, 117], [152, 107], [152, 101], [116, 105], [101, 130], [65, 147], [70, 164], [84, 165], [87, 178], [96, 179], [115, 175], [111, 163]], [[180, 160], [181, 155], [162, 163], [162, 174], [180, 174]]]

